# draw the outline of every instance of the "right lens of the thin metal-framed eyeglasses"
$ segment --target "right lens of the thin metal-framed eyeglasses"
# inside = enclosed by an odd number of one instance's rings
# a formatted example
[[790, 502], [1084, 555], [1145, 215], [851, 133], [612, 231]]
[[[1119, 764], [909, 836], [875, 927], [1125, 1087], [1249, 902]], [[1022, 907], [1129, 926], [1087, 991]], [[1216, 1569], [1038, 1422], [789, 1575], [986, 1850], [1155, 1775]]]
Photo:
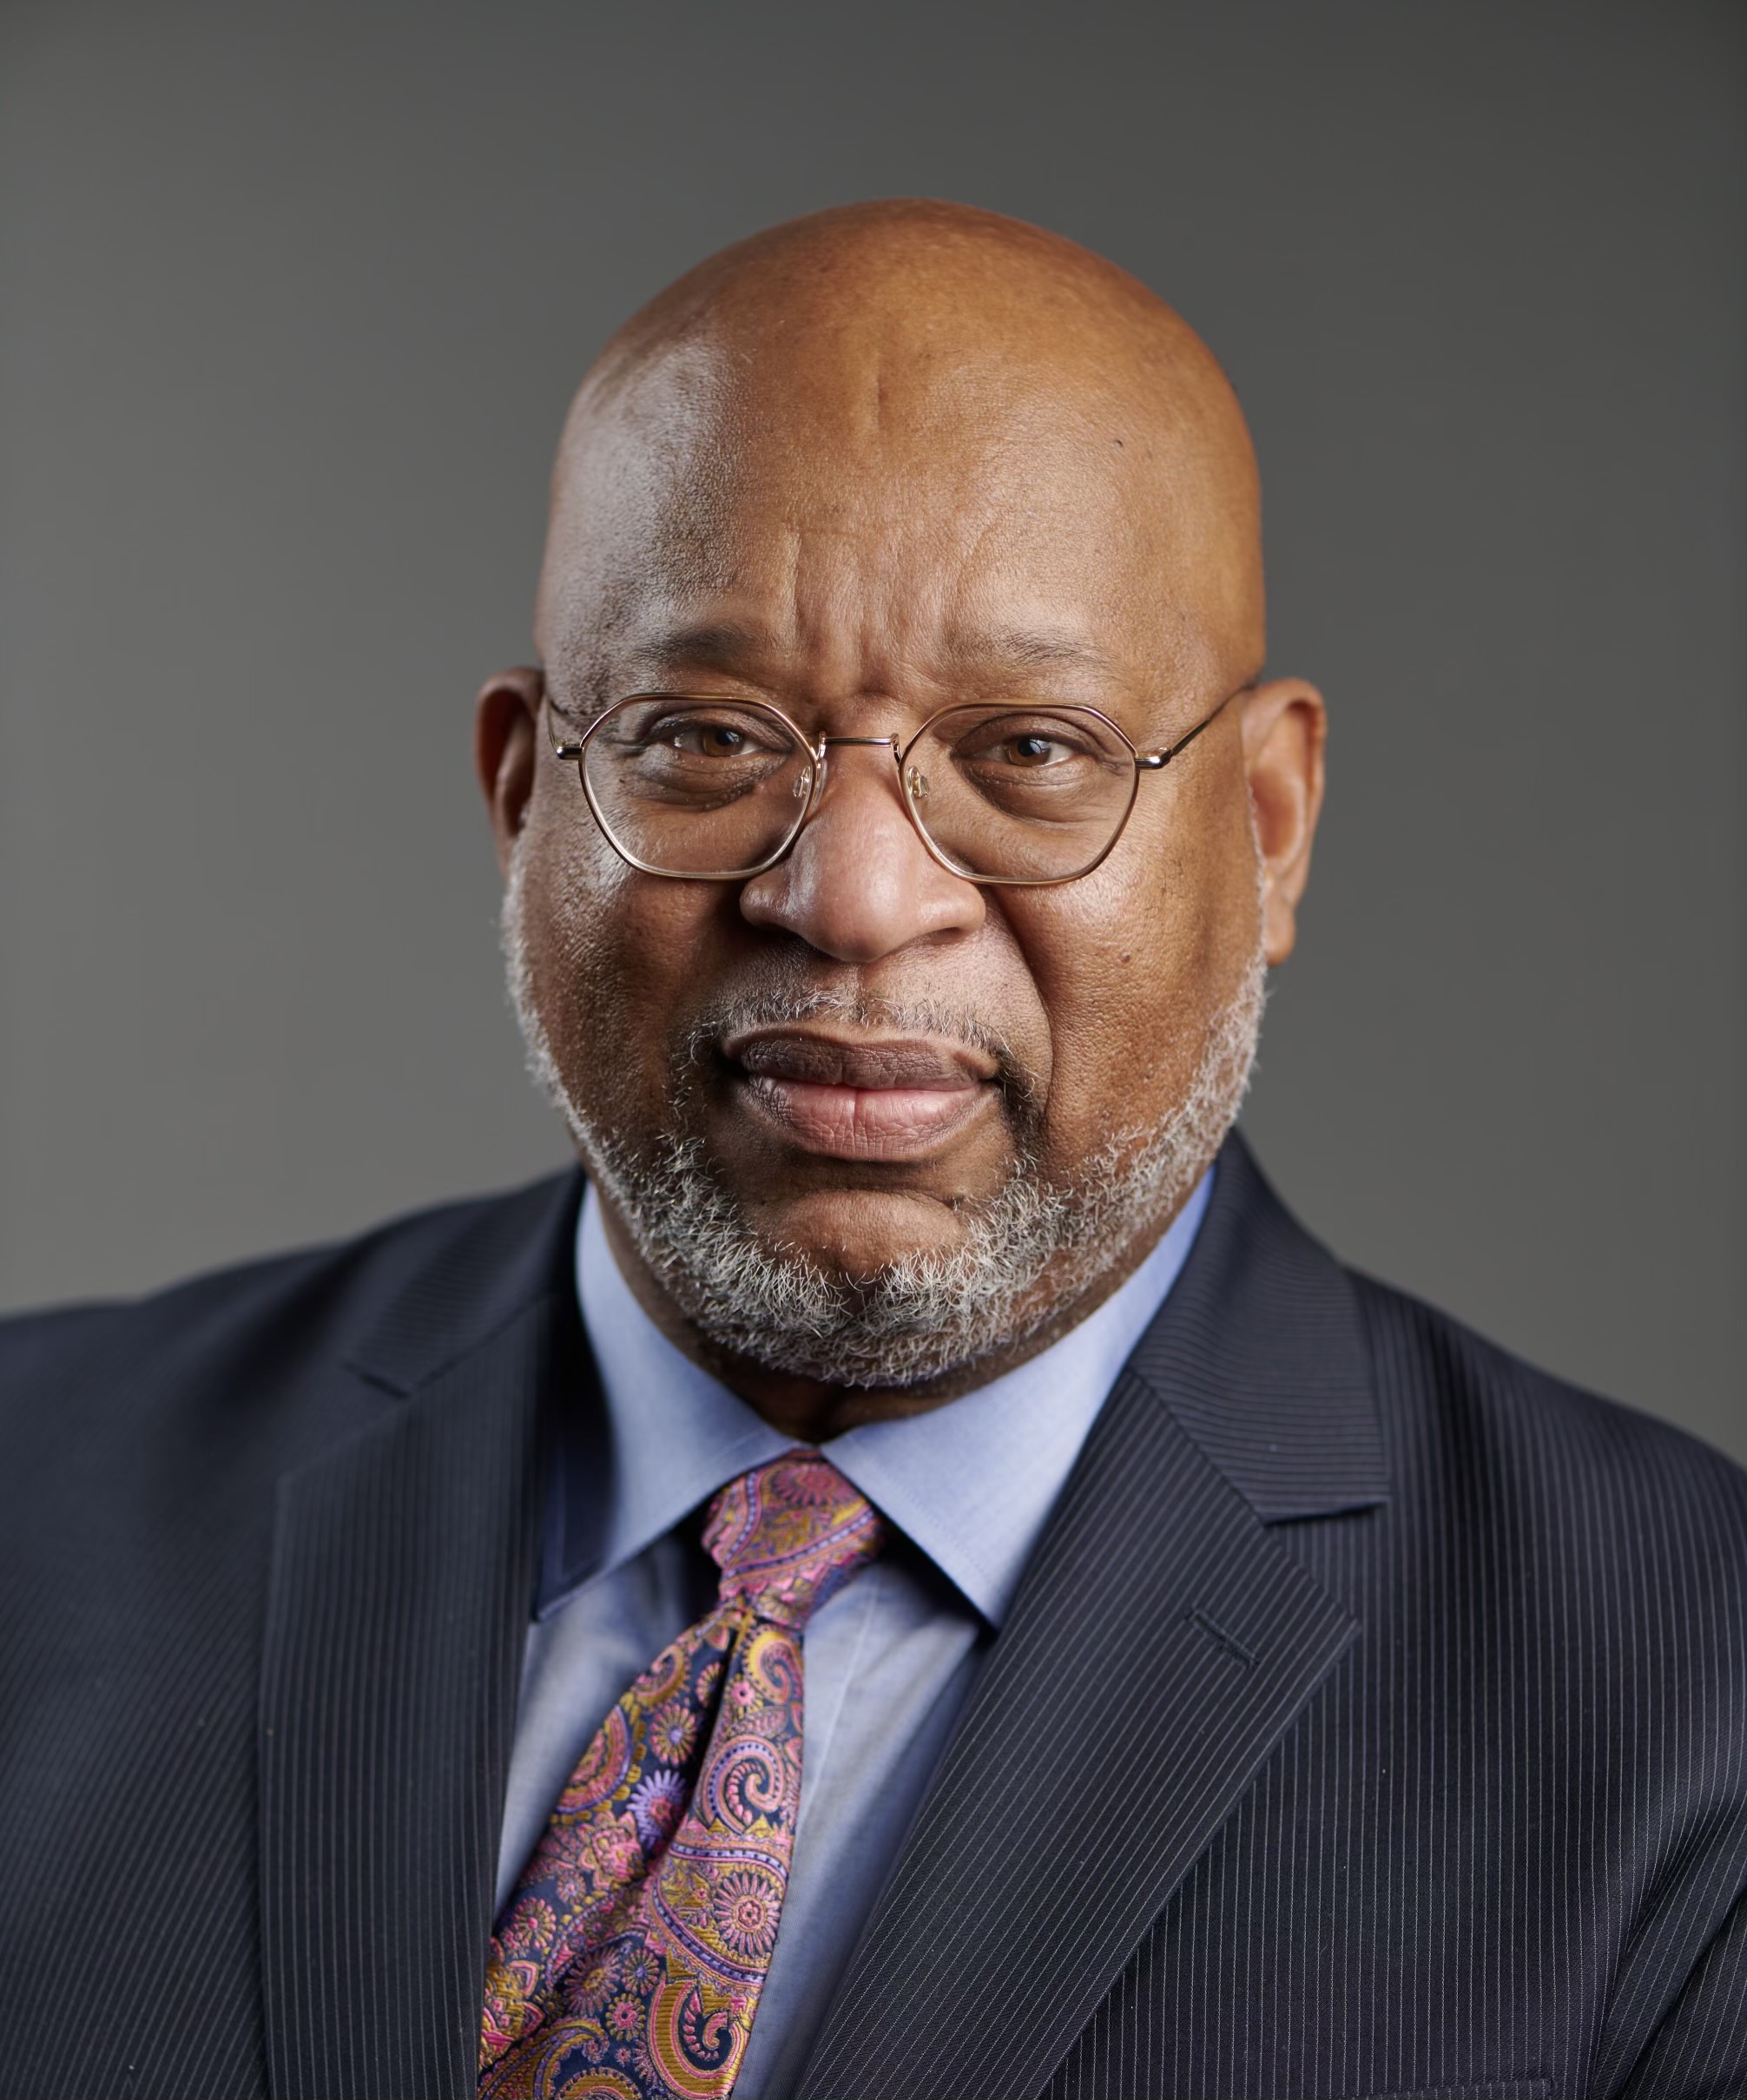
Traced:
[[1134, 802], [1134, 752], [1077, 708], [953, 708], [905, 756], [905, 796], [966, 876], [1067, 882], [1109, 850]]

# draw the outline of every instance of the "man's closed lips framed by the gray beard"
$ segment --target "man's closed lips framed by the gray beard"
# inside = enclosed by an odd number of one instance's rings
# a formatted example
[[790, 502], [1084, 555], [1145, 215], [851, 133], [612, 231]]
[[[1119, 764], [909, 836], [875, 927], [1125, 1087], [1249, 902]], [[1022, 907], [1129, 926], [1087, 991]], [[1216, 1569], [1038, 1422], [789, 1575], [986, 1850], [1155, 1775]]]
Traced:
[[745, 1029], [722, 1056], [754, 1119], [827, 1159], [926, 1159], [999, 1096], [987, 1052], [926, 1035]]

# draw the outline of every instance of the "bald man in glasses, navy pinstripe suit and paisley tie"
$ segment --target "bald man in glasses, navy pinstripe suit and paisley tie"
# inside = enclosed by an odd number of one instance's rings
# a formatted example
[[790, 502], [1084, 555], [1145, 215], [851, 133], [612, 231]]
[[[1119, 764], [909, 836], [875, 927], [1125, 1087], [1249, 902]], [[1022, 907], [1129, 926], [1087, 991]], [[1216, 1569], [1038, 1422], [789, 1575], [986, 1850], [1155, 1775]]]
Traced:
[[17, 1321], [8, 2094], [1747, 2092], [1747, 1483], [1230, 1134], [1323, 704], [1012, 220], [586, 378], [477, 756], [588, 1170]]

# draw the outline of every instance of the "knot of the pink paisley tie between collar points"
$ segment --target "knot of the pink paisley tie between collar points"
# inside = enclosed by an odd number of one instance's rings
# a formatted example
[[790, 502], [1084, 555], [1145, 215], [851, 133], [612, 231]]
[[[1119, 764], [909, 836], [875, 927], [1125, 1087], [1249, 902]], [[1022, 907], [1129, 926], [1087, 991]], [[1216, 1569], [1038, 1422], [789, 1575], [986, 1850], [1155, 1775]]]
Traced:
[[745, 1602], [794, 1632], [884, 1541], [880, 1514], [817, 1451], [785, 1451], [729, 1480], [703, 1527], [722, 1571], [722, 1602]]

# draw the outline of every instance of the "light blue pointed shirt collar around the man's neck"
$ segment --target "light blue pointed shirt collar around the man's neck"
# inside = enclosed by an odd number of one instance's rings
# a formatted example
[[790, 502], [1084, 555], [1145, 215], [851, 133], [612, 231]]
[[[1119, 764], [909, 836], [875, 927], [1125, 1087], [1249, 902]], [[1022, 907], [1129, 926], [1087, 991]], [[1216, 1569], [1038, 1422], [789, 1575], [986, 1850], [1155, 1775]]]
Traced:
[[[1077, 1327], [943, 1407], [867, 1422], [821, 1449], [991, 1623], [999, 1625], [1037, 1533], [1134, 1344], [1165, 1302], [1207, 1210], [1214, 1170], [1157, 1247]], [[580, 1497], [582, 1457], [561, 1443], [540, 1617], [624, 1567], [735, 1474], [792, 1449], [735, 1392], [661, 1334], [632, 1296], [588, 1189], [575, 1237], [577, 1300], [607, 1403], [605, 1495]], [[603, 1520], [567, 1522], [586, 1499]]]

